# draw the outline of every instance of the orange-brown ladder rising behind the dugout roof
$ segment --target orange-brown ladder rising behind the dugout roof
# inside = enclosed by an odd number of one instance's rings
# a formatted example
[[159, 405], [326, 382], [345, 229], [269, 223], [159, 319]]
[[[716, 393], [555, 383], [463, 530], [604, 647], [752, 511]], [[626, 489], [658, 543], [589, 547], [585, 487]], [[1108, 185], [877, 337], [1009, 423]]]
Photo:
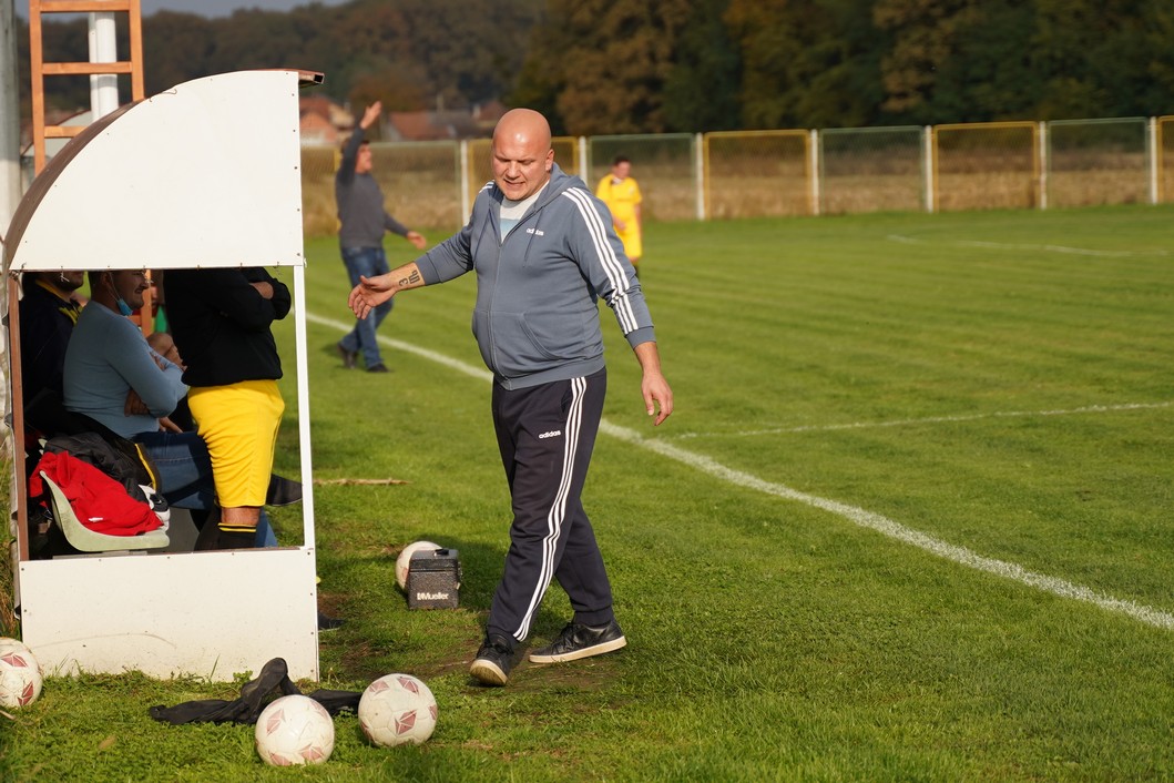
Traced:
[[[41, 14], [61, 13], [126, 13], [130, 15], [130, 59], [119, 62], [45, 62]], [[143, 35], [139, 0], [28, 0], [28, 53], [33, 97], [33, 170], [45, 168], [45, 141], [72, 139], [86, 126], [45, 124], [46, 76], [93, 76], [129, 74], [130, 96], [141, 101], [143, 95]]]

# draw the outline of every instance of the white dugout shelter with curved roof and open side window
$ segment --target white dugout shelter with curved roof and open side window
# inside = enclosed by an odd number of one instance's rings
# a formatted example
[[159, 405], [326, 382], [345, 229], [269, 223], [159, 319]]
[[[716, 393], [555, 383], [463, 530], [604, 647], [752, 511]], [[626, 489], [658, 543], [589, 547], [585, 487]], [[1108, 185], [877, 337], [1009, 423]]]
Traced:
[[[23, 641], [49, 673], [137, 669], [228, 681], [284, 657], [291, 677], [318, 679], [298, 88], [321, 80], [298, 70], [230, 73], [124, 106], [66, 144], [16, 208], [4, 248], [14, 567]], [[301, 546], [31, 559], [18, 276], [209, 266], [279, 268], [292, 292], [296, 357], [282, 359], [286, 376], [296, 366]]]

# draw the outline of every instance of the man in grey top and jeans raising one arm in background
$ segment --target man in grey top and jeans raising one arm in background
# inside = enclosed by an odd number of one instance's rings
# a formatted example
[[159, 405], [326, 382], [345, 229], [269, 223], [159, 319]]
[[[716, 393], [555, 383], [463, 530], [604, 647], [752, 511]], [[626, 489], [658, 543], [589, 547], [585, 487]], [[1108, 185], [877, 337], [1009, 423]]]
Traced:
[[[383, 103], [376, 101], [363, 113], [359, 126], [343, 148], [343, 161], [335, 175], [335, 200], [338, 202], [338, 221], [342, 223], [338, 243], [342, 245], [343, 263], [346, 264], [352, 286], [359, 284], [359, 277], [387, 272], [387, 256], [383, 250], [384, 231], [404, 237], [417, 250], [423, 250], [426, 244], [424, 236], [409, 230], [387, 214], [379, 183], [371, 176], [371, 147], [365, 131], [379, 119], [382, 110]], [[348, 369], [355, 366], [355, 360], [362, 352], [367, 372], [387, 372], [375, 332], [391, 312], [391, 306], [392, 301], [389, 299], [376, 308], [373, 318], [356, 319], [355, 329], [338, 342], [338, 353]]]

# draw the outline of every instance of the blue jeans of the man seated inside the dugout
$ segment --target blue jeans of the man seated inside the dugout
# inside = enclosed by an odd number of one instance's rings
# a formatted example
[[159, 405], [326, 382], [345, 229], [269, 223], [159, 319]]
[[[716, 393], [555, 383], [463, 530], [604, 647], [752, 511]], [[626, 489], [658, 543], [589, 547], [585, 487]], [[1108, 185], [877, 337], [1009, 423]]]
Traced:
[[[168, 505], [195, 511], [210, 511], [216, 505], [212, 460], [203, 438], [195, 432], [143, 432], [134, 440], [155, 464], [158, 491]], [[264, 508], [257, 521], [257, 546], [277, 546]]]

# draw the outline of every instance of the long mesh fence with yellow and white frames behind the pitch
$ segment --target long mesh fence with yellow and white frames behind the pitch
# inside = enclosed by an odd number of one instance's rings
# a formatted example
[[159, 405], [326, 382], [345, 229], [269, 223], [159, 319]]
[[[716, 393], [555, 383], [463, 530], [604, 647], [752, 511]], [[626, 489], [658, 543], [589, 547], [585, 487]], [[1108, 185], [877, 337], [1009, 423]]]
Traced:
[[[1174, 116], [553, 140], [588, 188], [632, 160], [650, 221], [877, 210], [1045, 209], [1174, 201]], [[492, 176], [488, 139], [372, 143], [387, 210], [411, 227], [465, 221]], [[304, 147], [308, 235], [338, 228], [339, 153]]]

